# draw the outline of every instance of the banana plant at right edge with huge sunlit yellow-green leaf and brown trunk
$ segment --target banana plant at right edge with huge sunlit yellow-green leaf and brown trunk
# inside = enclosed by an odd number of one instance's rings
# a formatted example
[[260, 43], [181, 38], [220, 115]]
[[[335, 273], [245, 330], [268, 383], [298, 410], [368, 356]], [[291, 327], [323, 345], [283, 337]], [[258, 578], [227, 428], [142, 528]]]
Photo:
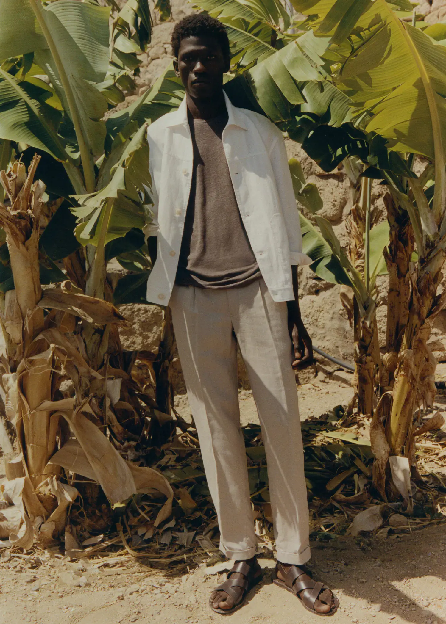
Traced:
[[[407, 471], [414, 467], [415, 404], [420, 398], [432, 406], [435, 396], [435, 361], [426, 341], [445, 303], [437, 295], [446, 245], [444, 28], [430, 29], [409, 2], [395, 4], [397, 10], [385, 0], [357, 0], [353, 23], [345, 3], [294, 2], [298, 11], [315, 16], [315, 36], [330, 37], [332, 77], [354, 103], [355, 127], [385, 139], [390, 155], [400, 154], [409, 170], [414, 155], [428, 159], [419, 176], [379, 165], [372, 172], [389, 190], [385, 205], [391, 229], [385, 258], [391, 278], [387, 347], [393, 350], [384, 358], [390, 395], [380, 399], [372, 421], [372, 444], [380, 457], [375, 484], [384, 496], [389, 494], [384, 487], [388, 460], [392, 465], [396, 457]], [[412, 23], [407, 21], [411, 12]], [[410, 270], [414, 246], [417, 261]]]

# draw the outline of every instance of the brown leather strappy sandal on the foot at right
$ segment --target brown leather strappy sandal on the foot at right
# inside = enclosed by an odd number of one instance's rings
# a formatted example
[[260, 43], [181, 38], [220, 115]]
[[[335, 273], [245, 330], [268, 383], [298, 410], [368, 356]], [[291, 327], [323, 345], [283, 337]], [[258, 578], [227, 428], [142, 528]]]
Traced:
[[[282, 563], [280, 563], [279, 561], [277, 562], [277, 565], [275, 566], [275, 578], [273, 580], [275, 585], [279, 585], [279, 587], [284, 587], [287, 592], [294, 594], [295, 597], [299, 598], [302, 606], [305, 607], [307, 611], [314, 613], [315, 615], [333, 615], [337, 612], [337, 608], [339, 607], [339, 600], [335, 597], [334, 593], [332, 592], [332, 590], [330, 590], [329, 587], [327, 587], [327, 585], [313, 580], [310, 577], [311, 575], [309, 570], [299, 568], [297, 565], [292, 565], [287, 568], [288, 569], [285, 570]], [[284, 581], [280, 580], [280, 578], [277, 578], [277, 570], [280, 570], [280, 573], [284, 575]], [[299, 578], [305, 574], [310, 577], [309, 580], [299, 580]], [[329, 590], [329, 592], [332, 594], [332, 607], [327, 613], [319, 613], [315, 611], [314, 603], [319, 598], [320, 594], [326, 589]], [[300, 592], [302, 592], [302, 594], [300, 594]]]

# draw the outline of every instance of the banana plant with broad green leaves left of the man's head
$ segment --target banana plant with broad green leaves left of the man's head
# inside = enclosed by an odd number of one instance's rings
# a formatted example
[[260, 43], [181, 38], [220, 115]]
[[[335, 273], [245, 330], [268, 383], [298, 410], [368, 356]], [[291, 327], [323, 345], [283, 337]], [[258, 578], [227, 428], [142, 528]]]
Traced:
[[[149, 5], [147, 0], [129, 0], [114, 11], [95, 0], [25, 0], [19, 11], [13, 6], [14, 0], [0, 2], [5, 17], [0, 25], [0, 139], [5, 150], [7, 145], [16, 146], [17, 157], [24, 150], [27, 163], [37, 150], [42, 156], [37, 175], [76, 213], [73, 196], [97, 193], [106, 186], [136, 130], [170, 109], [168, 101], [160, 104], [162, 95], [152, 89], [144, 101], [153, 107], [142, 117], [135, 110], [131, 122], [121, 126], [114, 122], [122, 116], [108, 125], [104, 119], [124, 100], [125, 90], [134, 86], [131, 74], [139, 66], [137, 53], [151, 39]], [[17, 28], [21, 37], [11, 37]], [[141, 112], [141, 102], [138, 107]], [[55, 170], [60, 175], [54, 175]], [[147, 197], [132, 195], [127, 201], [128, 197], [124, 193], [102, 202], [101, 211], [90, 215], [76, 213], [82, 222], [92, 219], [79, 230], [79, 242], [87, 246], [87, 290], [95, 296], [104, 297], [104, 246], [114, 238], [106, 234], [110, 219], [104, 214], [112, 212], [112, 225], [119, 218], [122, 236], [149, 220]]]

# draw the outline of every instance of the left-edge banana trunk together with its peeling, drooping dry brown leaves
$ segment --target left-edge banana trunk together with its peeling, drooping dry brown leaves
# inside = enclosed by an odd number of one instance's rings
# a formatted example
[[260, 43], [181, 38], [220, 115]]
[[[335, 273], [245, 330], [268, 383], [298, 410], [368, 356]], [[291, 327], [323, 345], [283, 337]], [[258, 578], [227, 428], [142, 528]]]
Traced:
[[[21, 515], [21, 524], [9, 539], [24, 549], [36, 541], [42, 546], [51, 544], [64, 530], [67, 510], [78, 494], [66, 482], [71, 474], [99, 482], [111, 504], [147, 489], [164, 492], [168, 500], [155, 525], [170, 514], [173, 497], [162, 475], [126, 462], [112, 437], [105, 434], [108, 427], [117, 437], [125, 436], [116, 413], [134, 413], [126, 396], [121, 399], [122, 381], [128, 374], [109, 366], [105, 357], [110, 328], [113, 336], [114, 326], [124, 324], [124, 318], [110, 303], [84, 295], [69, 281], [42, 293], [39, 222], [45, 187], [33, 182], [38, 162], [39, 157], [34, 157], [28, 173], [21, 162], [15, 162], [7, 173], [0, 172], [9, 200], [6, 205], [0, 203], [0, 225], [6, 232], [16, 289], [7, 291], [2, 310], [1, 324], [8, 340], [0, 379], [6, 414], [22, 453], [7, 462], [5, 487]], [[90, 328], [100, 328], [92, 333], [97, 343], [96, 368], [88, 361], [86, 344], [76, 331], [78, 319]], [[102, 360], [105, 364], [99, 372]], [[61, 382], [68, 379], [74, 396], [61, 399]], [[62, 468], [67, 471], [64, 479], [59, 478]]]

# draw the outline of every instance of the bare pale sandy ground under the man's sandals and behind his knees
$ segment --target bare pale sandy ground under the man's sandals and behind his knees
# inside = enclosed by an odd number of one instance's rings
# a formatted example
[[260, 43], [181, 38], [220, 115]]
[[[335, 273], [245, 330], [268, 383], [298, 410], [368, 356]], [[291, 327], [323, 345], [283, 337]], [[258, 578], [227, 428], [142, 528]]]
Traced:
[[[350, 380], [348, 373], [319, 371], [299, 389], [302, 419], [345, 405], [352, 396]], [[186, 397], [179, 398], [186, 414]], [[240, 392], [240, 413], [244, 423], [256, 419], [250, 391]], [[315, 542], [310, 566], [339, 596], [341, 606], [330, 622], [446, 624], [445, 550], [445, 526], [431, 525], [385, 539]], [[53, 553], [41, 555], [38, 567], [30, 558], [5, 555], [0, 555], [0, 624], [210, 624], [222, 618], [207, 607], [209, 592], [224, 580], [221, 563], [191, 562], [185, 575], [187, 568], [162, 572], [127, 555], [82, 562]], [[272, 583], [273, 560], [262, 565], [263, 582], [229, 621], [315, 621]]]

